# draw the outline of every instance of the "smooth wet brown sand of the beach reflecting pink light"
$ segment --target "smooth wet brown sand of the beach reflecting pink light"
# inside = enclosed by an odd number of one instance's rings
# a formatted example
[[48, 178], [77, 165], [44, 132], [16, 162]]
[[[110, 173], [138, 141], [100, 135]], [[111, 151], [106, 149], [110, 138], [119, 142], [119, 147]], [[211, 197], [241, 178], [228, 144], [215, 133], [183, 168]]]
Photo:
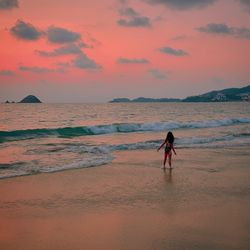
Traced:
[[250, 249], [249, 148], [177, 153], [0, 180], [0, 249]]

